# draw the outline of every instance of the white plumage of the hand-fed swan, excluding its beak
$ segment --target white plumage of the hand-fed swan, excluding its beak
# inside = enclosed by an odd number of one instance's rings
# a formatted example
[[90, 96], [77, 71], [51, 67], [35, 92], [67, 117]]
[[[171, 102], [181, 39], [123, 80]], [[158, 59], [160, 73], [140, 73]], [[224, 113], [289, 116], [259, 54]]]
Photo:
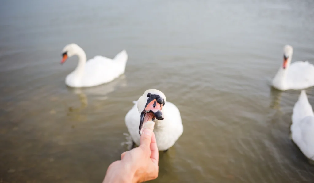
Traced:
[[[149, 100], [148, 93], [164, 96], [162, 92], [155, 89], [147, 90], [138, 101], [133, 101], [134, 105], [125, 116], [125, 124], [135, 144], [139, 145], [139, 125], [141, 121], [140, 113], [144, 110], [145, 104]], [[165, 99], [165, 97], [164, 97]], [[183, 133], [183, 125], [179, 109], [171, 102], [166, 102], [161, 109], [163, 120], [155, 119], [154, 134], [156, 136], [159, 151], [171, 148]]]

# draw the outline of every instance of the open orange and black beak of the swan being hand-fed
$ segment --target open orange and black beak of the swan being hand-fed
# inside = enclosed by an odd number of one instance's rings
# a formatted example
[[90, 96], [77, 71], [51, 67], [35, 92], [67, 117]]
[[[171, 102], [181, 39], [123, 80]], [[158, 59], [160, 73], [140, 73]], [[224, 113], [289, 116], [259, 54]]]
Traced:
[[[159, 97], [160, 98], [160, 97]], [[161, 102], [161, 104], [159, 103]], [[159, 100], [158, 98], [151, 99], [149, 98], [145, 109], [141, 113], [141, 120], [139, 123], [138, 133], [141, 135], [140, 131], [143, 127], [143, 124], [147, 121], [154, 121], [155, 118], [158, 120], [163, 120], [164, 115], [161, 112], [162, 106], [164, 105], [164, 100]]]

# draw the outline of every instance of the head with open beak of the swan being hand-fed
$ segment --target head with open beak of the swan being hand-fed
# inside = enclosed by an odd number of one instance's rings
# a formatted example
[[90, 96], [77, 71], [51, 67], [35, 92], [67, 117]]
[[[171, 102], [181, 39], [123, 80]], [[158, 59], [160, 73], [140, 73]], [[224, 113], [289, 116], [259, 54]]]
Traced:
[[164, 93], [157, 89], [148, 89], [138, 99], [138, 112], [141, 115], [139, 123], [139, 134], [143, 124], [147, 121], [154, 121], [155, 119], [163, 120], [162, 107], [165, 105], [166, 96]]

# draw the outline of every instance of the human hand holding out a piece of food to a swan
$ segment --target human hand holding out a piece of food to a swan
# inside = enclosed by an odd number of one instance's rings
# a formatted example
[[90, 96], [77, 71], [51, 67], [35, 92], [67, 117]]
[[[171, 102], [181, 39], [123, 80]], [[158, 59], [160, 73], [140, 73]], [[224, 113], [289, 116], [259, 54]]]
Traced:
[[158, 177], [158, 148], [156, 137], [146, 128], [141, 135], [140, 146], [121, 154], [121, 160], [113, 162], [103, 183], [140, 183]]

